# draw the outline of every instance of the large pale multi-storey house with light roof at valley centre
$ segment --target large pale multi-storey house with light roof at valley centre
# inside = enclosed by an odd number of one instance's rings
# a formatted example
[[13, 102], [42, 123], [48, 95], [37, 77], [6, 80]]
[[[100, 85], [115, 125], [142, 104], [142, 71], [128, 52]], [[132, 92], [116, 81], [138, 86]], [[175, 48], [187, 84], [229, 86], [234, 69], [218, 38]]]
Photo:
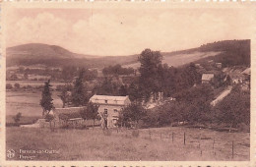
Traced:
[[109, 96], [109, 95], [94, 95], [90, 101], [99, 105], [97, 112], [102, 118], [103, 115], [107, 117], [107, 127], [115, 127], [119, 111], [131, 104], [129, 96]]

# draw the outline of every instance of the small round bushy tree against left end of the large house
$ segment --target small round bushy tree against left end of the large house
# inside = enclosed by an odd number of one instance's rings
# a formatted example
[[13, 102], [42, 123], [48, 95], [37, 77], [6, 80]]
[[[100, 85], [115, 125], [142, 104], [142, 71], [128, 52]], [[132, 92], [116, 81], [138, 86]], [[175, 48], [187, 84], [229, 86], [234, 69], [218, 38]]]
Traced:
[[95, 121], [98, 118], [98, 115], [97, 115], [98, 107], [99, 106], [94, 104], [93, 102], [89, 102], [87, 105], [87, 108], [80, 111], [80, 115], [84, 120], [87, 120], [87, 119], [94, 120], [93, 128], [95, 128]]

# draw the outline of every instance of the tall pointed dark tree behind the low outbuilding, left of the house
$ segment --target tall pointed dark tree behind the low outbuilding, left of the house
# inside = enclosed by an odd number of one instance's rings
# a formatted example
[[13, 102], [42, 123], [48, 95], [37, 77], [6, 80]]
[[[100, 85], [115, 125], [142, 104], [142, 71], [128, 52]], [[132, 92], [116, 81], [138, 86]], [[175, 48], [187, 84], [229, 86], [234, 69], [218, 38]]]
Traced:
[[82, 69], [79, 72], [79, 77], [76, 79], [76, 82], [74, 83], [72, 94], [71, 94], [72, 104], [74, 106], [86, 105], [89, 100], [86, 86], [84, 84], [84, 76], [85, 76], [85, 69]]

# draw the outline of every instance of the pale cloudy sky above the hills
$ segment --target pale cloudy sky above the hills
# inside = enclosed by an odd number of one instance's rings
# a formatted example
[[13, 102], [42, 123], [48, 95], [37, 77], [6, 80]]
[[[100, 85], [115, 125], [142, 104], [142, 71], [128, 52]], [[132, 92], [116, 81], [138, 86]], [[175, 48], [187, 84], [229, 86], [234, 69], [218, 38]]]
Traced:
[[7, 47], [26, 43], [62, 46], [98, 56], [169, 52], [226, 39], [249, 39], [246, 8], [23, 9], [8, 11]]

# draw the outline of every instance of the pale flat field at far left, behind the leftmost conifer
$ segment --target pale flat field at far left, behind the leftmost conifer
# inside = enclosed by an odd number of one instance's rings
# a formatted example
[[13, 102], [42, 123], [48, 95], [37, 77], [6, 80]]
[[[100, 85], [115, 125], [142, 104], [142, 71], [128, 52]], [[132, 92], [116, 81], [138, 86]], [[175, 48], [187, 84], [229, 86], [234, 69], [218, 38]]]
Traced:
[[[6, 116], [7, 122], [12, 121], [11, 117], [21, 112], [24, 117], [41, 116], [41, 106], [39, 105], [41, 98], [40, 91], [6, 91]], [[54, 106], [62, 107], [62, 101], [57, 96], [57, 92], [52, 94]]]

